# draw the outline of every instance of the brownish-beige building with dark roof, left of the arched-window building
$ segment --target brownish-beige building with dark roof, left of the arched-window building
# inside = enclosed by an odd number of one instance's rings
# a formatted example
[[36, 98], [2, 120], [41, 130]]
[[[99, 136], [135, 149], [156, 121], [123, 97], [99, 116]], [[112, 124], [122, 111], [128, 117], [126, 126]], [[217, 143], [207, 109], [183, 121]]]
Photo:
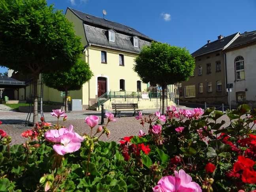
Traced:
[[203, 45], [192, 53], [196, 60], [194, 76], [180, 83], [180, 101], [208, 104], [227, 104], [226, 95], [226, 66], [223, 52], [239, 33], [218, 39]]

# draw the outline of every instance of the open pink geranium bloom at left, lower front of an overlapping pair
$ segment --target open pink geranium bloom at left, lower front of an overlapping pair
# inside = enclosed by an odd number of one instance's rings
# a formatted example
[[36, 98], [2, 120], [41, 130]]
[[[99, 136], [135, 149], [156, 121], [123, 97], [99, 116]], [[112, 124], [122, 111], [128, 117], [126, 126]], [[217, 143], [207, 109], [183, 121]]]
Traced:
[[61, 136], [60, 143], [53, 145], [53, 149], [56, 153], [60, 155], [64, 155], [69, 152], [75, 152], [80, 149], [81, 142], [77, 141], [77, 137], [75, 133], [68, 132]]

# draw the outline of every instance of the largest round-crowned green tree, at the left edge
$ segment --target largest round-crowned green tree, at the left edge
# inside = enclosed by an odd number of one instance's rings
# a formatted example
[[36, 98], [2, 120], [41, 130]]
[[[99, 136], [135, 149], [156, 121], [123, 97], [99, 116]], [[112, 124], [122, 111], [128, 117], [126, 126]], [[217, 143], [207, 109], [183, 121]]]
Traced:
[[83, 45], [72, 23], [46, 0], [0, 1], [0, 65], [34, 79], [34, 117], [38, 121], [40, 73], [66, 70], [80, 57]]

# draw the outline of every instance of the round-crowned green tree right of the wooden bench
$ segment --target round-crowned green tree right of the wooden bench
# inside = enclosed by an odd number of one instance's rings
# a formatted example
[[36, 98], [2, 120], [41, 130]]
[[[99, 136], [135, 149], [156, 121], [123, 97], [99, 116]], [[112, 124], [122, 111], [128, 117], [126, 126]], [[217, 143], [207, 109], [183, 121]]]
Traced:
[[195, 60], [186, 48], [152, 42], [142, 48], [135, 59], [134, 71], [143, 83], [162, 86], [162, 113], [167, 85], [188, 80], [194, 73]]

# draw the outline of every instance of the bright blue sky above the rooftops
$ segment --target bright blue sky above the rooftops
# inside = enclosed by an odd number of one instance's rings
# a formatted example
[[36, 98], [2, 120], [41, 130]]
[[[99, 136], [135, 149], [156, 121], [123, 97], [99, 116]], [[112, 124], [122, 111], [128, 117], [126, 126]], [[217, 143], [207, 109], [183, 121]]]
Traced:
[[[256, 30], [255, 0], [48, 0], [135, 28], [156, 41], [186, 47], [190, 53], [218, 35]], [[0, 68], [0, 72], [6, 69]]]

